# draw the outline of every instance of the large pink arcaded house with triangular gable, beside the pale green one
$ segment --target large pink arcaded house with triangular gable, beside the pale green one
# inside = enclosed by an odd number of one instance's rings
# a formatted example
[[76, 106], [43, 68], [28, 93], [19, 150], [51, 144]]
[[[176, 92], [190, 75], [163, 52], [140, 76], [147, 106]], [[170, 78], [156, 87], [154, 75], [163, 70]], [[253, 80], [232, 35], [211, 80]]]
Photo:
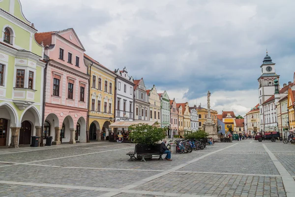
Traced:
[[35, 39], [49, 57], [43, 136], [53, 136], [55, 145], [86, 142], [89, 75], [83, 62], [85, 49], [73, 29], [36, 33]]

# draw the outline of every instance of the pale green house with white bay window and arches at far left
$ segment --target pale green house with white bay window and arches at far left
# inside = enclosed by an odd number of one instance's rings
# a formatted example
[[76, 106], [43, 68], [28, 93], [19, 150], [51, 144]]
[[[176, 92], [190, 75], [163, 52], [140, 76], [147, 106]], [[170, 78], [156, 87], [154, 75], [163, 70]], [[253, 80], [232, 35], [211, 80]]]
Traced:
[[19, 0], [0, 0], [0, 146], [18, 148], [41, 136], [44, 47]]

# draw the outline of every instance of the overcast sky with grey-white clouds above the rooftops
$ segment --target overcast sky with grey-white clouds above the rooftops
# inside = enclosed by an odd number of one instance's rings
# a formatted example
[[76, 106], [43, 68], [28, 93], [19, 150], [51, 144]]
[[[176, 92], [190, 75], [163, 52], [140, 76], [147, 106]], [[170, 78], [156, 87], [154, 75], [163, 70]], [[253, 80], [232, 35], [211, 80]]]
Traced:
[[280, 83], [295, 71], [294, 0], [21, 0], [38, 32], [74, 28], [86, 53], [156, 85], [170, 99], [244, 115], [258, 103], [260, 65]]

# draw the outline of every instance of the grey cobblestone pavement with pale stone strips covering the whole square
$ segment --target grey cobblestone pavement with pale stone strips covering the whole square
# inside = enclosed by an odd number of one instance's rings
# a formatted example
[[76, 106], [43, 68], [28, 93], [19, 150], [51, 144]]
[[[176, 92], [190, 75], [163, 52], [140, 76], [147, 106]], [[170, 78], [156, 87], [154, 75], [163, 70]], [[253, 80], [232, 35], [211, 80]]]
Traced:
[[[134, 144], [0, 148], [0, 197], [294, 197], [295, 146], [216, 143], [172, 162], [129, 162]], [[291, 184], [291, 185], [290, 185]]]

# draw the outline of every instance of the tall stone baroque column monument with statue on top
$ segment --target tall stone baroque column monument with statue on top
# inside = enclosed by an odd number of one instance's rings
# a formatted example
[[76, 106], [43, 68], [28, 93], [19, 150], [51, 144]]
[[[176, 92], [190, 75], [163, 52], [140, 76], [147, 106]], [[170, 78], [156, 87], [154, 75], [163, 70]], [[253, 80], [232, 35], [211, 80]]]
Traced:
[[211, 109], [210, 109], [210, 96], [211, 93], [208, 91], [207, 94], [207, 121], [203, 124], [203, 130], [209, 134], [208, 137], [212, 137], [213, 140], [220, 142], [220, 139], [217, 135], [217, 126], [214, 124], [211, 118]]

